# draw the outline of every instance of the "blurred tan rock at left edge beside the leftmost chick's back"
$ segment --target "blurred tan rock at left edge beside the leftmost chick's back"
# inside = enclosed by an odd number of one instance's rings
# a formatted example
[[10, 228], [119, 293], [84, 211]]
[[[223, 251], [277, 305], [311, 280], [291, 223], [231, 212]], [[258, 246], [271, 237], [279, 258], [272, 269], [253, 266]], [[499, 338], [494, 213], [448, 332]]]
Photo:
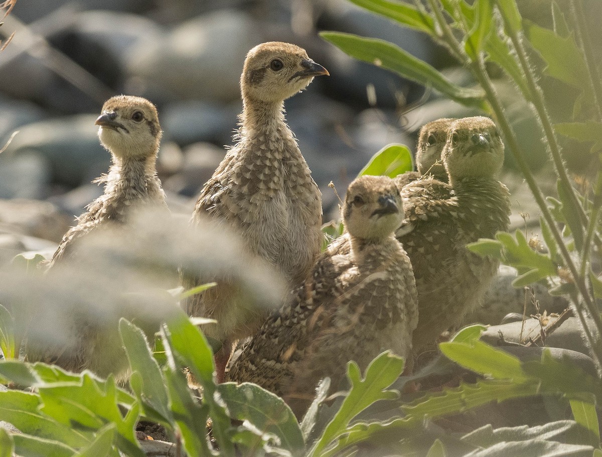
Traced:
[[0, 200], [0, 230], [59, 242], [72, 218], [48, 201]]

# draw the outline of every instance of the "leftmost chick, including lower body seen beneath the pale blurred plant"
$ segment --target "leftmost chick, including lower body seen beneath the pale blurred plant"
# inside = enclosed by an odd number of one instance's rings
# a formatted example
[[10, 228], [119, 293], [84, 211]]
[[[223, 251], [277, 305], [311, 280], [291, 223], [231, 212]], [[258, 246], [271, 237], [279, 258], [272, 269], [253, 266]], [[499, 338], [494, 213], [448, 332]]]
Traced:
[[[157, 108], [141, 97], [112, 97], [102, 106], [95, 124], [99, 126], [102, 146], [111, 153], [113, 162], [109, 173], [96, 180], [104, 183], [105, 191], [87, 206], [87, 211], [77, 219], [77, 225], [64, 235], [48, 262], [48, 274], [57, 266], [69, 266], [69, 261], [75, 260], [78, 242], [92, 232], [125, 224], [141, 206], [167, 210], [155, 170], [162, 133]], [[102, 347], [95, 347], [99, 338], [93, 322], [79, 322], [76, 326], [72, 329], [78, 341], [75, 350], [56, 348], [48, 342], [44, 348], [35, 345], [28, 348], [28, 360], [52, 362], [71, 371], [88, 368], [99, 375], [108, 375], [114, 362], [107, 361], [111, 357]]]

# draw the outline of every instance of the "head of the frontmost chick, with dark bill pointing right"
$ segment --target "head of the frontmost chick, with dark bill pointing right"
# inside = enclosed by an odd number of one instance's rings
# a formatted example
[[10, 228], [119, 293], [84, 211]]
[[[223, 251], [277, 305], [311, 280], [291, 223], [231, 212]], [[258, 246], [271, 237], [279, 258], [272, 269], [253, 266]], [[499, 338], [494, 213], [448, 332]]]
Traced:
[[393, 179], [360, 176], [349, 185], [343, 219], [350, 235], [385, 238], [399, 227], [403, 217], [402, 197]]

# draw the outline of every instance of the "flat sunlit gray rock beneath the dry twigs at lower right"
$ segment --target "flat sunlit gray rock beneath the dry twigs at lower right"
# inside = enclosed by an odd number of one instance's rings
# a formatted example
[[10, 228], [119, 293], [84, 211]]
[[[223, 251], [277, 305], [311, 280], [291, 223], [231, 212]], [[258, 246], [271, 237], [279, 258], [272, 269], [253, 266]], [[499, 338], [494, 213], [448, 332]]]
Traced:
[[[555, 318], [553, 318], [555, 319]], [[523, 322], [510, 322], [509, 324], [493, 325], [483, 332], [481, 339], [493, 346], [505, 346], [506, 343], [520, 343], [521, 328]], [[527, 319], [524, 322], [522, 342], [529, 342], [529, 338], [535, 338], [539, 334], [539, 321], [537, 319]], [[503, 340], [501, 340], [501, 336]], [[577, 317], [569, 317], [559, 328], [549, 334], [545, 340], [545, 345], [550, 348], [570, 349], [571, 351], [581, 352], [589, 355], [589, 349], [583, 340], [583, 331]]]

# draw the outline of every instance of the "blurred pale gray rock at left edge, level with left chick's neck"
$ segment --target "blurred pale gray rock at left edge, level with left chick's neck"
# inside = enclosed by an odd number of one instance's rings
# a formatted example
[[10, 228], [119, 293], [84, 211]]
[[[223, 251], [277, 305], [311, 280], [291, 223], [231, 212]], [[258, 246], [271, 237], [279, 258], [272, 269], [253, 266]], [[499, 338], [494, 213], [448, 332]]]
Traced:
[[50, 180], [49, 161], [40, 153], [0, 155], [0, 198], [45, 198]]

